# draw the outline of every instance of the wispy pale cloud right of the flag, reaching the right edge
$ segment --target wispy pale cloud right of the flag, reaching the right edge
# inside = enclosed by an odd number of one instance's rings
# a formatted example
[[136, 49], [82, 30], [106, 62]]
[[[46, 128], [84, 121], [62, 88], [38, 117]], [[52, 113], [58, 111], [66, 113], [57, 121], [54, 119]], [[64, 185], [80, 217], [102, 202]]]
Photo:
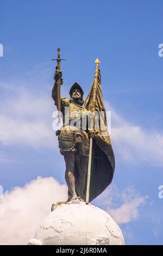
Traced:
[[120, 117], [108, 102], [105, 106], [111, 110], [111, 141], [116, 156], [129, 164], [163, 166], [163, 132], [134, 125]]

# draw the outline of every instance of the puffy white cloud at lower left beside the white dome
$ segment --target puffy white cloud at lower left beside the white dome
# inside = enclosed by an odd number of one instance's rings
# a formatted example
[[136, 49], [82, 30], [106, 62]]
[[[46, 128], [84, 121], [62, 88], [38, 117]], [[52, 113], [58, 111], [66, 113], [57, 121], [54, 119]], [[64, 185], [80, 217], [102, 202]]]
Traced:
[[67, 187], [52, 177], [30, 181], [0, 199], [0, 244], [26, 245], [53, 203], [67, 199]]

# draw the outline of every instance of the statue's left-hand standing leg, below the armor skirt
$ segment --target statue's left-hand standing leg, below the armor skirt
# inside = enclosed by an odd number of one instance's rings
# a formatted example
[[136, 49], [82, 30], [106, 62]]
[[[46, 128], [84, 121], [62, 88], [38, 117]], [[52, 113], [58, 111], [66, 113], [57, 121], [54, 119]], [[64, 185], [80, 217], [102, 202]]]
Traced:
[[74, 179], [74, 153], [66, 152], [64, 154], [64, 159], [66, 163], [66, 178], [67, 178], [67, 186], [71, 192], [72, 199], [77, 197], [76, 187], [75, 187], [75, 179]]

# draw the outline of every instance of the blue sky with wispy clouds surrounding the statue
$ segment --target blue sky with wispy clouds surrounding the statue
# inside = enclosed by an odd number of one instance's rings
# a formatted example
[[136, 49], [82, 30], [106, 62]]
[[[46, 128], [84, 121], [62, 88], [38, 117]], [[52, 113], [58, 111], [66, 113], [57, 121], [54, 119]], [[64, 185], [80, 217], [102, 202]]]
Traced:
[[37, 176], [65, 183], [65, 163], [52, 130], [51, 59], [58, 47], [67, 59], [61, 63], [62, 95], [68, 97], [77, 81], [86, 97], [98, 57], [105, 106], [111, 110], [116, 171], [109, 192], [93, 203], [117, 218], [127, 244], [162, 244], [162, 9], [161, 0], [1, 1], [4, 192]]

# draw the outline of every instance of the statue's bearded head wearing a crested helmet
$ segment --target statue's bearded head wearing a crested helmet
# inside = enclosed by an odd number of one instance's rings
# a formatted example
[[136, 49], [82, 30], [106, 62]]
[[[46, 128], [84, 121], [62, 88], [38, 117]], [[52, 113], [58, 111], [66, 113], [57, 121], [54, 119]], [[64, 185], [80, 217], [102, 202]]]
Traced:
[[79, 86], [79, 84], [77, 82], [75, 82], [71, 89], [70, 89], [70, 101], [75, 101], [77, 102], [79, 105], [83, 105], [84, 100], [83, 100], [83, 90], [82, 87]]

